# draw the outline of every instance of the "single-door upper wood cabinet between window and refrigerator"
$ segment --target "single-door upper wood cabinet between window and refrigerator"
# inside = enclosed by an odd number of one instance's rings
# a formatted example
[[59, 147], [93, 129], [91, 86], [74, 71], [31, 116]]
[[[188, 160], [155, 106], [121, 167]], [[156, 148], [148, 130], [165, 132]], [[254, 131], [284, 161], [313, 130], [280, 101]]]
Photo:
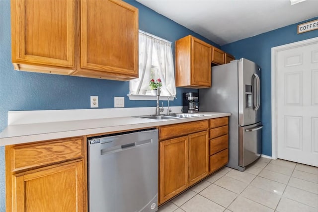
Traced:
[[175, 85], [177, 87], [211, 87], [211, 48], [191, 35], [175, 42]]

